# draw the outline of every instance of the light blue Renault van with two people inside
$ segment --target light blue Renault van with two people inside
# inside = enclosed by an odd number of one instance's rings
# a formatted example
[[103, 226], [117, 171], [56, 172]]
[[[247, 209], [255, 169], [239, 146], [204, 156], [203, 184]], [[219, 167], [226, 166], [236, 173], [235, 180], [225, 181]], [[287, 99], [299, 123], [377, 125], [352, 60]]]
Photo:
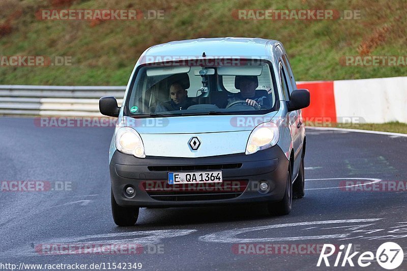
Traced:
[[[140, 207], [264, 202], [285, 215], [304, 196], [305, 129], [297, 89], [279, 41], [173, 41], [143, 52], [110, 144], [111, 207], [119, 226]], [[265, 205], [266, 205], [265, 204]]]

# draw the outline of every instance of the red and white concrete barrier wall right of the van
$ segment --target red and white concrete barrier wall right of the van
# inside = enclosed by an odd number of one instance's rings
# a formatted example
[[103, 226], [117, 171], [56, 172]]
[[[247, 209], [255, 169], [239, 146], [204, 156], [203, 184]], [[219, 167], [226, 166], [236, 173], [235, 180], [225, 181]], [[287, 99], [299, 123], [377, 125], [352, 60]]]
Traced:
[[407, 123], [407, 77], [297, 82], [308, 88], [311, 104], [302, 110], [306, 119], [337, 123]]

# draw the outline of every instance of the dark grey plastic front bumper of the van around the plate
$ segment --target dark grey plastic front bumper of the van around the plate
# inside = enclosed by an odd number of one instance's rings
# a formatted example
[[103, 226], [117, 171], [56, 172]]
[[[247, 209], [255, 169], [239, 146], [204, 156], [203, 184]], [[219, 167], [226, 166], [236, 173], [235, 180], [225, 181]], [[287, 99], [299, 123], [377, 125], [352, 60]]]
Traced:
[[[110, 161], [111, 187], [121, 206], [176, 207], [209, 204], [271, 202], [283, 198], [288, 160], [276, 145], [252, 155], [201, 158], [136, 158], [118, 152]], [[222, 184], [168, 185], [168, 172], [222, 171]], [[260, 191], [261, 182], [269, 189]], [[135, 195], [125, 189], [132, 186]]]

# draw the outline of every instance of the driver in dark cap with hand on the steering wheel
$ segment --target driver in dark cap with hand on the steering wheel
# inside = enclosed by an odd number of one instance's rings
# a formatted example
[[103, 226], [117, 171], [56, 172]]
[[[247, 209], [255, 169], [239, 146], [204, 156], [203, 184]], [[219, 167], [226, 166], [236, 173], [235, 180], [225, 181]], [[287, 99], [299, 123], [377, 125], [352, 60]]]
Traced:
[[257, 76], [237, 75], [235, 87], [240, 89], [232, 98], [227, 99], [227, 105], [237, 101], [245, 101], [247, 105], [253, 106], [256, 110], [270, 108], [270, 100], [267, 95], [256, 93], [258, 86]]

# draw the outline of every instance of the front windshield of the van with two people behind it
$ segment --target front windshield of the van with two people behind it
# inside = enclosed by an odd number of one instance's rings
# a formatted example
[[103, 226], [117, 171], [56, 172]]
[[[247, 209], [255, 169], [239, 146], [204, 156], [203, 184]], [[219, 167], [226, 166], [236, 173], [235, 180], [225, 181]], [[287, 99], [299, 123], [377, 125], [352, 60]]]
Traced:
[[265, 114], [277, 107], [274, 73], [266, 61], [144, 65], [134, 77], [127, 116]]

